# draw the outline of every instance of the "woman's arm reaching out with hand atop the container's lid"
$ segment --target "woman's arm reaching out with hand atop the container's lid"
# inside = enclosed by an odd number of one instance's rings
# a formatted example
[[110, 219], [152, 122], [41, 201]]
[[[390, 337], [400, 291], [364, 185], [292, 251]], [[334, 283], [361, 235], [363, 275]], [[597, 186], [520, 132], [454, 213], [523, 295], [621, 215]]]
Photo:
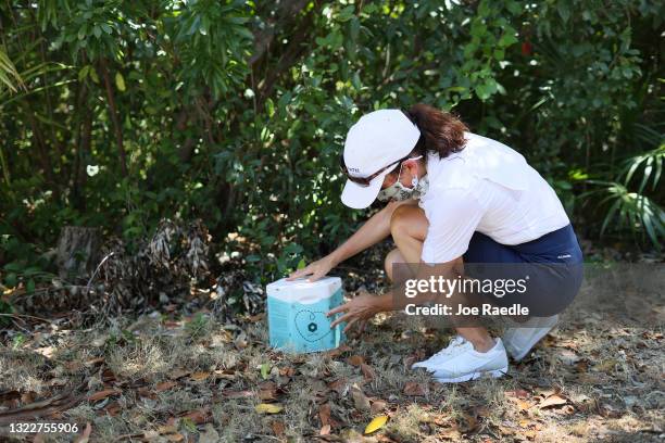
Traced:
[[311, 276], [311, 281], [318, 280], [341, 262], [384, 240], [390, 235], [390, 218], [392, 217], [392, 213], [402, 204], [417, 204], [417, 201], [406, 200], [403, 202], [388, 203], [386, 207], [369, 217], [369, 219], [339, 248], [319, 261], [311, 263], [306, 267], [292, 273], [289, 279]]

